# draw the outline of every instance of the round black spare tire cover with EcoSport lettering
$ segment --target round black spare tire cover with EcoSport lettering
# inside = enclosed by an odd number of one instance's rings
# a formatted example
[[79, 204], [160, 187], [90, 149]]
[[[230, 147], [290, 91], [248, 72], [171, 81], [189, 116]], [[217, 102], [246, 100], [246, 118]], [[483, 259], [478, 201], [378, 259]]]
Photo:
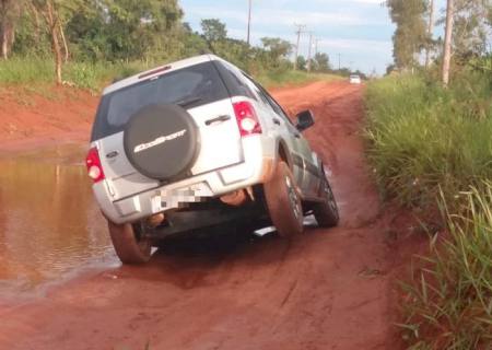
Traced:
[[185, 175], [199, 152], [199, 132], [191, 116], [176, 105], [149, 105], [125, 128], [125, 152], [143, 175], [169, 180]]

